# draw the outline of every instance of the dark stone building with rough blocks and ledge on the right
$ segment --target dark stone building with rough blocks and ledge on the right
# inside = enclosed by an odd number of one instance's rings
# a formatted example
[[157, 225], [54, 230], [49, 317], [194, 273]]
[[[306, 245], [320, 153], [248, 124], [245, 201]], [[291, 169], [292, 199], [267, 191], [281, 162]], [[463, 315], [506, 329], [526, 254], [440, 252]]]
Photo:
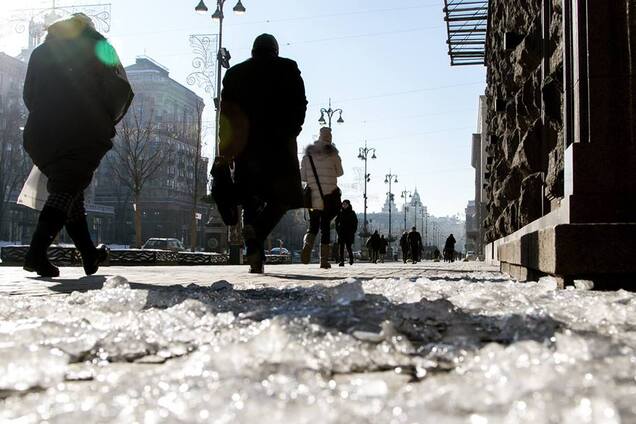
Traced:
[[633, 283], [636, 1], [483, 3], [487, 259]]

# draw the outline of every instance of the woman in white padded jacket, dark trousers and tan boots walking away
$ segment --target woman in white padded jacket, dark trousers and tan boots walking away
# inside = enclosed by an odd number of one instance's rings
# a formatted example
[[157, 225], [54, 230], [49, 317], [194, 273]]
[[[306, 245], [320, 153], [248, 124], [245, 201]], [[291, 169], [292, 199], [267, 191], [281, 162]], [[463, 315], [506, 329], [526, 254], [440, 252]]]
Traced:
[[334, 204], [324, 204], [311, 166], [310, 156], [316, 167], [323, 195], [327, 196], [339, 190], [338, 177], [342, 176], [344, 172], [342, 171], [342, 160], [338, 149], [331, 143], [330, 128], [321, 128], [318, 140], [305, 149], [305, 156], [300, 166], [300, 176], [303, 182], [311, 188], [309, 229], [305, 234], [301, 260], [304, 264], [309, 263], [316, 235], [318, 230], [320, 230], [320, 267], [331, 268], [329, 264], [330, 227], [331, 221], [336, 217], [340, 209], [340, 200], [336, 199], [333, 202]]

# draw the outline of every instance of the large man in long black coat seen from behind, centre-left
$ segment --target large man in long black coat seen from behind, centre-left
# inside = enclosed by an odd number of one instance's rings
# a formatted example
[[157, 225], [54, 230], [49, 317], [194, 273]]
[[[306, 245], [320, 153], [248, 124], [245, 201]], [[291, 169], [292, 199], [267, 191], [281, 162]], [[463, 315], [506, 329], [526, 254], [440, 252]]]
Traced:
[[234, 160], [250, 272], [263, 272], [263, 244], [278, 221], [303, 207], [296, 138], [306, 109], [298, 66], [278, 56], [272, 35], [258, 36], [252, 58], [223, 79], [220, 154]]

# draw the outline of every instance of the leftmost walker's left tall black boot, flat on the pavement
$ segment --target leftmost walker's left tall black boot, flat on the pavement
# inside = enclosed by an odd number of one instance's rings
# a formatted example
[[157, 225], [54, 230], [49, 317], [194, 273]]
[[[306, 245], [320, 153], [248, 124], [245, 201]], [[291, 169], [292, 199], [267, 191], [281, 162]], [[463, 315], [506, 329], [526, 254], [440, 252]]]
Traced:
[[31, 245], [24, 257], [23, 269], [29, 272], [37, 272], [41, 277], [58, 277], [60, 270], [51, 262], [46, 255], [46, 251], [55, 240], [66, 221], [66, 213], [45, 206], [40, 212], [38, 225], [33, 232]]

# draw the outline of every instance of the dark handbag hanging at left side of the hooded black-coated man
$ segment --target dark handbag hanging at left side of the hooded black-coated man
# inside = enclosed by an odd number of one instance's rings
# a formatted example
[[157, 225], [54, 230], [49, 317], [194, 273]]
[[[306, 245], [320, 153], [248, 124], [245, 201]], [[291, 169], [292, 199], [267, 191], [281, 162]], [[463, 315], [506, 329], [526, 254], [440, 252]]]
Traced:
[[212, 198], [221, 214], [225, 225], [234, 226], [238, 224], [238, 198], [236, 197], [236, 183], [232, 178], [229, 162], [217, 156], [214, 159], [212, 170]]

